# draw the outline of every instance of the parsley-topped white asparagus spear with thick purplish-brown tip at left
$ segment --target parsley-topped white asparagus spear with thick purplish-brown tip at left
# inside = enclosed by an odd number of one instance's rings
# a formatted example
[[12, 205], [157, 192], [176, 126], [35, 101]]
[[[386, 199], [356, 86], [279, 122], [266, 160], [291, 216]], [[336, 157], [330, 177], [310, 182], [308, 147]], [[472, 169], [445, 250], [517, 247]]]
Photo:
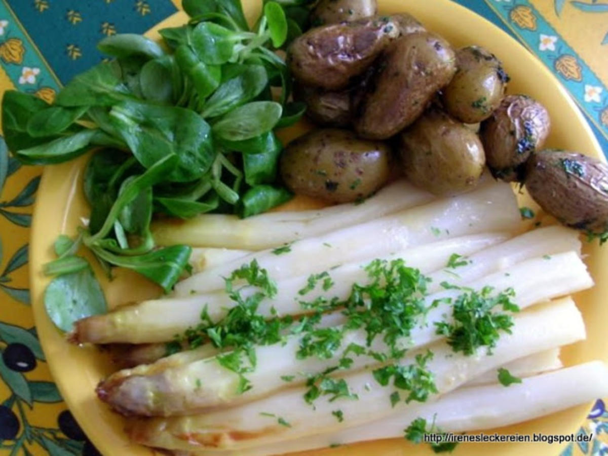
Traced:
[[[504, 272], [503, 272], [504, 271]], [[550, 260], [533, 258], [523, 261], [501, 272], [477, 280], [469, 287], [477, 291], [491, 286], [496, 292], [513, 288], [513, 302], [520, 308], [553, 297], [581, 291], [593, 285], [586, 266], [576, 252], [553, 255]], [[508, 275], [506, 275], [508, 274]], [[449, 289], [425, 298], [430, 306], [438, 299], [455, 299], [462, 291]], [[397, 341], [402, 348], [419, 348], [435, 342], [443, 336], [435, 332], [434, 322], [451, 322], [451, 303], [442, 302], [427, 313], [425, 323], [413, 328], [410, 337]], [[336, 313], [340, 316], [340, 313]], [[252, 401], [286, 387], [283, 376], [296, 375], [289, 386], [302, 384], [306, 375], [315, 375], [337, 364], [337, 359], [348, 345], [365, 346], [367, 332], [364, 329], [347, 331], [331, 359], [320, 359], [316, 356], [299, 359], [297, 353], [301, 345], [300, 334], [285, 339], [282, 344], [264, 345], [255, 348], [257, 367], [247, 374], [252, 388], [245, 393], [238, 393], [240, 376], [220, 365], [214, 359], [178, 365], [175, 368], [162, 370], [154, 375], [131, 375], [125, 377], [119, 373], [108, 378], [98, 387], [100, 397], [112, 407], [127, 414], [147, 416], [171, 416], [196, 413], [208, 407], [235, 405]], [[389, 347], [381, 336], [376, 337], [368, 347], [378, 353], [388, 353]], [[378, 364], [378, 361], [367, 356], [354, 356], [348, 371]], [[150, 401], [150, 397], [162, 397], [162, 401]]]

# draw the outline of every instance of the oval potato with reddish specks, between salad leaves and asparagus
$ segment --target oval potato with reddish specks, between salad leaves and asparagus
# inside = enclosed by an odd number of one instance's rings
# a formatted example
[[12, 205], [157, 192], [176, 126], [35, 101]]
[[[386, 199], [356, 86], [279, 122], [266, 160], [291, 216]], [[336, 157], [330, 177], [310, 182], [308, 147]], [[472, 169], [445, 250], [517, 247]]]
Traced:
[[280, 172], [292, 192], [328, 202], [353, 202], [389, 178], [390, 148], [351, 131], [313, 130], [285, 148]]

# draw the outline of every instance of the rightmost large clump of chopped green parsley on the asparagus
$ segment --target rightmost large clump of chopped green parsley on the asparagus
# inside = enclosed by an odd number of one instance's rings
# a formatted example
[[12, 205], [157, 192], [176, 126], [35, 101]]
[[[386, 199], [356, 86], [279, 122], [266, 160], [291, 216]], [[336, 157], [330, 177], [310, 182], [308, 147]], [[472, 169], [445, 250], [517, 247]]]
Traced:
[[478, 347], [488, 347], [488, 353], [496, 347], [500, 331], [511, 333], [513, 317], [496, 311], [517, 312], [511, 298], [515, 292], [509, 288], [492, 296], [493, 289], [486, 286], [482, 291], [465, 291], [454, 299], [452, 305], [452, 323], [435, 322], [437, 334], [447, 336], [447, 343], [452, 350], [466, 355], [474, 354]]

